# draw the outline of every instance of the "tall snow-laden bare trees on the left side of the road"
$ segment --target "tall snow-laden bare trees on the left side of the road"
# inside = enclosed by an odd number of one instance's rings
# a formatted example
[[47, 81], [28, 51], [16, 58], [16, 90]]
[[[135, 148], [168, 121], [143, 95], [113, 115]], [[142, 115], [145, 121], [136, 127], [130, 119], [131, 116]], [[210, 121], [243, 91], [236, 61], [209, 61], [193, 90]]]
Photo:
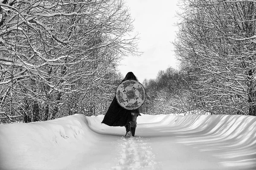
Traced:
[[96, 85], [102, 90], [92, 94], [104, 96], [119, 59], [136, 54], [136, 37], [124, 38], [133, 20], [123, 0], [2, 0], [0, 7], [3, 117], [54, 119], [70, 96]]

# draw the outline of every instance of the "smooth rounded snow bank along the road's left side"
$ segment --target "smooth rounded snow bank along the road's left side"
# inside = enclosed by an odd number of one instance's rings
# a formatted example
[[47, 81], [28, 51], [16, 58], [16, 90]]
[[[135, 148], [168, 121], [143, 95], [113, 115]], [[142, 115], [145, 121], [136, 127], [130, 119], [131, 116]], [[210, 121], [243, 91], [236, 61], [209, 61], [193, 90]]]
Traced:
[[[72, 115], [46, 122], [0, 126], [0, 169], [65, 169], [90, 152], [99, 135], [86, 116]], [[60, 163], [61, 161], [61, 163]]]

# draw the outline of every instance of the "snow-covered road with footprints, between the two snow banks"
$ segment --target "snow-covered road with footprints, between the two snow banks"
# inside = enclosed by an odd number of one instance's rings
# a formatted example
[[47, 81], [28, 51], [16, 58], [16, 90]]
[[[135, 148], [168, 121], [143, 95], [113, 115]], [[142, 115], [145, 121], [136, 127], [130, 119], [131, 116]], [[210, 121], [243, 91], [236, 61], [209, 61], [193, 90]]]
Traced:
[[[221, 160], [213, 156], [213, 151], [201, 152], [196, 148], [186, 146], [180, 141], [185, 133], [177, 133], [182, 127], [172, 130], [168, 126], [169, 116], [139, 117], [136, 136], [131, 139], [119, 137], [114, 169], [116, 170], [236, 170], [235, 167], [221, 165]], [[156, 119], [154, 119], [154, 117]], [[148, 119], [148, 120], [147, 120]], [[88, 118], [92, 120], [92, 118]], [[124, 127], [99, 128], [99, 123], [90, 121], [93, 131], [99, 134], [119, 136], [125, 133]], [[148, 122], [148, 123], [146, 123]], [[184, 130], [185, 131], [185, 130]], [[113, 142], [112, 142], [113, 143]], [[121, 149], [122, 148], [122, 149]], [[113, 148], [114, 149], [114, 148]], [[104, 149], [102, 149], [104, 150]], [[99, 167], [98, 167], [99, 168]], [[239, 168], [237, 168], [239, 170]]]

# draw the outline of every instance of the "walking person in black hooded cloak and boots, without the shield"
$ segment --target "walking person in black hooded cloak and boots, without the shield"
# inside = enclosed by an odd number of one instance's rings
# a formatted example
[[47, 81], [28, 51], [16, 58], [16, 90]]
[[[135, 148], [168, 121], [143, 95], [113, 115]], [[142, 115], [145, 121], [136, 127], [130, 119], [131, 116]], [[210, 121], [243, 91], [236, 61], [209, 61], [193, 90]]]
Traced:
[[[132, 72], [128, 72], [122, 82], [128, 79], [138, 81], [137, 77]], [[129, 138], [131, 135], [135, 135], [135, 129], [137, 127], [137, 116], [139, 115], [139, 109], [130, 111], [122, 108], [117, 103], [115, 96], [113, 101], [111, 102], [111, 105], [108, 108], [107, 113], [104, 116], [102, 123], [108, 126], [125, 126], [125, 138]]]

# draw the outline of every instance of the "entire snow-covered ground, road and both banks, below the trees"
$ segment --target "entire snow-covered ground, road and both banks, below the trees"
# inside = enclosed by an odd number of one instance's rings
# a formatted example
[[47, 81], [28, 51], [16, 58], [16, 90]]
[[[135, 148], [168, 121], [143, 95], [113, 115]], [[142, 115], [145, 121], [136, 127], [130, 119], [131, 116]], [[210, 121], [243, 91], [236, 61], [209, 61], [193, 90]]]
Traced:
[[125, 127], [81, 114], [0, 125], [0, 170], [256, 170], [256, 117], [139, 116]]

